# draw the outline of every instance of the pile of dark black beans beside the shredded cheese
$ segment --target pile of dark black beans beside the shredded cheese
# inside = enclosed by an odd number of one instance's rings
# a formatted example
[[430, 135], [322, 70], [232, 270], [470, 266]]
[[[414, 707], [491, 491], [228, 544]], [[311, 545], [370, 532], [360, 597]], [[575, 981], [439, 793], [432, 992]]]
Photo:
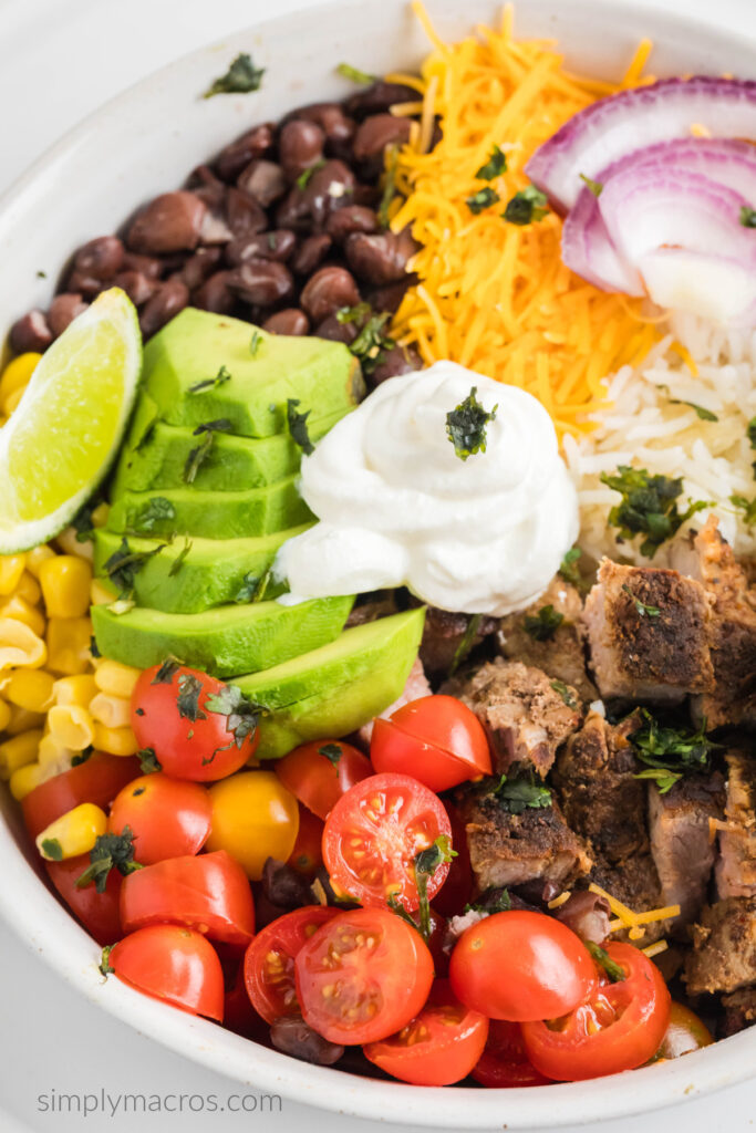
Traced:
[[[410, 130], [389, 108], [415, 97], [377, 82], [247, 130], [185, 188], [148, 202], [120, 236], [83, 245], [49, 310], [14, 324], [11, 348], [44, 351], [110, 287], [130, 297], [145, 339], [192, 305], [350, 346], [371, 316], [396, 312], [414, 282], [407, 263], [417, 245], [408, 230], [385, 225], [381, 184], [387, 147]], [[337, 317], [356, 307], [356, 317]], [[367, 376], [375, 385], [419, 365], [414, 350], [384, 337]]]

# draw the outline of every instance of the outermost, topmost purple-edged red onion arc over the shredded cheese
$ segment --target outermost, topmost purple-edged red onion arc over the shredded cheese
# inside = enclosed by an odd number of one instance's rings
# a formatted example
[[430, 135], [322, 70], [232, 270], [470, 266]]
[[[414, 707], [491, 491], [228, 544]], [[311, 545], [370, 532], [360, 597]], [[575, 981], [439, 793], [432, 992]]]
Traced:
[[700, 126], [716, 138], [756, 140], [756, 82], [697, 76], [622, 91], [575, 114], [530, 157], [526, 172], [558, 212], [571, 208], [602, 169]]

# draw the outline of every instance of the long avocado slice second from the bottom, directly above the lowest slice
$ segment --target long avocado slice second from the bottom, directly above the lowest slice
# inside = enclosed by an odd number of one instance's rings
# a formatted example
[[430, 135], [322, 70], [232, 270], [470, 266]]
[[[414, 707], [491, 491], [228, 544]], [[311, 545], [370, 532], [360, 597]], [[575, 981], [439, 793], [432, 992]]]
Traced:
[[135, 607], [114, 614], [92, 607], [92, 624], [103, 657], [148, 668], [167, 657], [214, 676], [258, 672], [318, 649], [343, 629], [354, 597], [312, 598], [296, 606], [257, 602], [216, 606], [199, 614], [167, 614]]

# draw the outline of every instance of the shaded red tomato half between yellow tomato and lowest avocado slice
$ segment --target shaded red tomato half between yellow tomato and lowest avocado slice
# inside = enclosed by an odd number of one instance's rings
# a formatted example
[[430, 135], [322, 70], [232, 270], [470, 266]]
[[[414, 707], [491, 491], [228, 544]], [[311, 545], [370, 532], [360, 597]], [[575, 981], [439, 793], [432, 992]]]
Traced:
[[373, 774], [369, 759], [341, 740], [321, 740], [295, 748], [275, 764], [281, 783], [318, 818], [325, 820], [342, 794]]

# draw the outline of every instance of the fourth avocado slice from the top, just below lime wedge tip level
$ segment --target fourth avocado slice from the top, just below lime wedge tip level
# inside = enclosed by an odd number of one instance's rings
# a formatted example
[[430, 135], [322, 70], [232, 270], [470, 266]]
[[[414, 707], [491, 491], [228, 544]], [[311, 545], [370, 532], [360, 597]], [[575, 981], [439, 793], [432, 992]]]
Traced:
[[[171, 614], [195, 614], [223, 603], [249, 600], [279, 547], [309, 526], [304, 523], [254, 539], [178, 536], [159, 554], [145, 559], [135, 572], [134, 597], [141, 606]], [[94, 533], [94, 572], [100, 579], [107, 578], [104, 564], [120, 548], [122, 538], [102, 528]], [[127, 542], [129, 551], [139, 554], [150, 554], [160, 546], [158, 539], [131, 535]], [[275, 598], [286, 587], [269, 579], [263, 589], [265, 598]]]

